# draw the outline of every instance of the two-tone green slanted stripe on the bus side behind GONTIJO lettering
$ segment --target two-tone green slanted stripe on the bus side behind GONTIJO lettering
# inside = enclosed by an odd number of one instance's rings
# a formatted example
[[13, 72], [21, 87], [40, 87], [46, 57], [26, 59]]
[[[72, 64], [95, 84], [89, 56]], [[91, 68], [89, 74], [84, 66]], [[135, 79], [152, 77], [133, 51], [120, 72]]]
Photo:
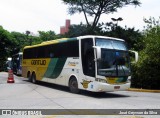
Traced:
[[44, 77], [56, 79], [62, 72], [66, 60], [67, 58], [52, 58]]

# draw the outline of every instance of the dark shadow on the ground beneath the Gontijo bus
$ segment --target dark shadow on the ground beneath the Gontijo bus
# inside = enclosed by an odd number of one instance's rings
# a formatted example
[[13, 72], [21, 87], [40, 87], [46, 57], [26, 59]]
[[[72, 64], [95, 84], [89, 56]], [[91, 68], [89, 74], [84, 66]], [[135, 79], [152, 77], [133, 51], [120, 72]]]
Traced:
[[[28, 80], [23, 80], [23, 81], [27, 81], [29, 82]], [[69, 88], [66, 87], [66, 86], [61, 86], [61, 85], [57, 85], [57, 84], [53, 84], [53, 83], [47, 83], [47, 82], [40, 82], [38, 81], [36, 83], [37, 85], [40, 85], [40, 86], [45, 86], [45, 87], [48, 87], [48, 88], [52, 88], [52, 89], [56, 89], [56, 90], [59, 90], [59, 91], [63, 91], [63, 92], [70, 92]], [[73, 93], [74, 94], [74, 93]], [[94, 97], [94, 98], [120, 98], [120, 97], [130, 97], [128, 95], [123, 95], [123, 94], [117, 94], [117, 93], [114, 93], [114, 92], [90, 92], [90, 91], [85, 91], [85, 90], [81, 90], [79, 94], [77, 95], [84, 95], [84, 96], [87, 96], [87, 97]]]

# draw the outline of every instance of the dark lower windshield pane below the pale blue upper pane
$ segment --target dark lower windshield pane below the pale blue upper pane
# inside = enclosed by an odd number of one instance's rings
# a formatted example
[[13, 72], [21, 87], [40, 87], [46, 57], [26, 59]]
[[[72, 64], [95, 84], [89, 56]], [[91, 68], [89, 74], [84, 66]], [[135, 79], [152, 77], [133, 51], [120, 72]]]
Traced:
[[98, 61], [98, 74], [103, 76], [129, 76], [129, 58], [125, 51], [102, 49]]

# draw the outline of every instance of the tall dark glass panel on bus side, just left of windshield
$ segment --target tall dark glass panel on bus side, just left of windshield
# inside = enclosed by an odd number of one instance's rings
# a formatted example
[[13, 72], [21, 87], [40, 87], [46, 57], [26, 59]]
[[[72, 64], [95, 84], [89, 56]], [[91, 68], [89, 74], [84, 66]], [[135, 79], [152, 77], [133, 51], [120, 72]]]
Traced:
[[95, 76], [93, 39], [81, 40], [82, 68], [83, 73], [88, 76]]

